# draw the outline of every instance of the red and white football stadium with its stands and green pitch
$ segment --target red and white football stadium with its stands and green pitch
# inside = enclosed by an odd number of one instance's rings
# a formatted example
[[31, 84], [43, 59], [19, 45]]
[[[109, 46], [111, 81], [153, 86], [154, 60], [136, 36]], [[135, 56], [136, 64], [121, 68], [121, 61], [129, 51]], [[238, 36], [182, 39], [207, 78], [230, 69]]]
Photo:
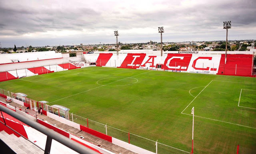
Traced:
[[49, 150], [50, 134], [22, 115], [92, 153], [255, 153], [253, 59], [253, 51], [226, 60], [225, 51], [3, 54], [0, 135], [37, 152], [74, 152], [57, 138]]

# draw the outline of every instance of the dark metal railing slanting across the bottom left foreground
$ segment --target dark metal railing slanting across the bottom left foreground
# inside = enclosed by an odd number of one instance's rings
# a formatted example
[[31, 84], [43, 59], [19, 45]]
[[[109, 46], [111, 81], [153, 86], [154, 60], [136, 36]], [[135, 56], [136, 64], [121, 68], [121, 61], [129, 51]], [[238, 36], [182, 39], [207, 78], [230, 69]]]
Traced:
[[[3, 111], [4, 113], [7, 113], [8, 115], [13, 116], [14, 118], [20, 120], [21, 122], [28, 124], [28, 126], [45, 134], [47, 136], [46, 146], [44, 149], [45, 154], [50, 153], [51, 146], [52, 146], [52, 139], [56, 140], [57, 142], [60, 142], [61, 144], [67, 146], [68, 148], [70, 148], [80, 154], [97, 154], [97, 152], [95, 152], [94, 150], [87, 148], [86, 146], [82, 146], [81, 144], [79, 144], [73, 140], [70, 140], [69, 138], [62, 136], [61, 134], [58, 134], [54, 130], [51, 130], [50, 128], [47, 128], [41, 124], [38, 124], [37, 122], [35, 122], [33, 120], [27, 119], [27, 118], [23, 117], [22, 115], [19, 115], [15, 111], [12, 111], [11, 109], [8, 109], [2, 105], [0, 105], [0, 111], [1, 111], [1, 115], [2, 115], [2, 111]], [[2, 117], [3, 117], [3, 115], [2, 115]], [[3, 119], [4, 119], [4, 117], [3, 117]], [[6, 125], [5, 120], [4, 120], [4, 122], [2, 122], [2, 121], [0, 121], [0, 122], [2, 124]], [[8, 126], [8, 128], [11, 128], [11, 127]], [[24, 137], [24, 136], [22, 136], [22, 137]]]

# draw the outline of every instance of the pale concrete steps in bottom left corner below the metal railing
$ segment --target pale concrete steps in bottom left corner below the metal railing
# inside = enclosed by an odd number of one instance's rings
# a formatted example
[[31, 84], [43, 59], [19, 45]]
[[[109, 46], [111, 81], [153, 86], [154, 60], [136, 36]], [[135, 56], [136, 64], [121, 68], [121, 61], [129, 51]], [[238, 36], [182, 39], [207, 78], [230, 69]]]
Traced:
[[0, 132], [0, 139], [5, 142], [17, 154], [43, 154], [44, 151], [36, 147], [34, 144], [24, 139], [17, 137], [14, 134], [8, 134], [4, 130]]

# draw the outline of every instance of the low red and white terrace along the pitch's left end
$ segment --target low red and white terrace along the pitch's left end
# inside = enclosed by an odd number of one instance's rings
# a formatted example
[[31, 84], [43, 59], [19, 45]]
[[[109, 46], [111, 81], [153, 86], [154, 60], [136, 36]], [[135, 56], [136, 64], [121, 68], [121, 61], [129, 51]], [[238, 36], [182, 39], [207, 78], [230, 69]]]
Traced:
[[41, 67], [32, 67], [27, 69], [5, 71], [5, 72], [0, 72], [0, 82], [12, 80], [12, 79], [18, 79], [22, 77], [30, 77], [34, 75], [65, 71], [69, 69], [77, 69], [84, 66], [85, 66], [84, 62], [76, 62], [76, 63], [63, 63], [63, 64], [56, 64], [56, 65], [48, 65], [48, 66], [46, 65]]

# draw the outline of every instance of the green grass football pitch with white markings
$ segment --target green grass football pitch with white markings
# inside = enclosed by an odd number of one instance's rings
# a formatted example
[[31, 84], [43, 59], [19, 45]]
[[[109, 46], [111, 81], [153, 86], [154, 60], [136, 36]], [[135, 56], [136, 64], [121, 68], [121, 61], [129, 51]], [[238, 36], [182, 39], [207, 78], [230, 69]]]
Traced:
[[[238, 144], [240, 153], [256, 153], [256, 78], [86, 67], [5, 81], [0, 88], [187, 152], [194, 107], [194, 153], [234, 154]], [[134, 136], [130, 142], [155, 152], [154, 142]], [[170, 153], [164, 148], [158, 146], [160, 153]]]

